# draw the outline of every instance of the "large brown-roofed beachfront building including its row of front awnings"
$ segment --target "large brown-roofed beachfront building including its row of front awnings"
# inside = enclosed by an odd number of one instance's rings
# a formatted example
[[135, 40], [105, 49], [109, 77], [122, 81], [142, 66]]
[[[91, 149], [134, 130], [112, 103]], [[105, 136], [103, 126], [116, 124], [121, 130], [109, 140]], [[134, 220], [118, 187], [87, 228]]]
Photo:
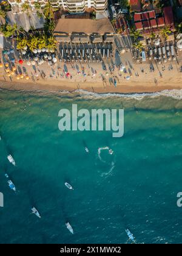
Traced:
[[113, 43], [115, 30], [109, 19], [66, 19], [56, 24], [54, 35], [59, 43]]

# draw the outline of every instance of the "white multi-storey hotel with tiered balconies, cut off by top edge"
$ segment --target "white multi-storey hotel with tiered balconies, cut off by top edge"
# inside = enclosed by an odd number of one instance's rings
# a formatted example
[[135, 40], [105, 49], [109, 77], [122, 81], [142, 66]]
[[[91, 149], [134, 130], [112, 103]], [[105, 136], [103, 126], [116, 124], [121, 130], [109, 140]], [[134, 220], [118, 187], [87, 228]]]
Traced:
[[[35, 10], [34, 0], [8, 0], [12, 5], [13, 13], [22, 13], [24, 2], [30, 4], [30, 9]], [[37, 1], [44, 7], [47, 0]], [[107, 0], [50, 0], [52, 7], [61, 8], [69, 13], [84, 13], [94, 10], [95, 12], [104, 12], [107, 9]]]

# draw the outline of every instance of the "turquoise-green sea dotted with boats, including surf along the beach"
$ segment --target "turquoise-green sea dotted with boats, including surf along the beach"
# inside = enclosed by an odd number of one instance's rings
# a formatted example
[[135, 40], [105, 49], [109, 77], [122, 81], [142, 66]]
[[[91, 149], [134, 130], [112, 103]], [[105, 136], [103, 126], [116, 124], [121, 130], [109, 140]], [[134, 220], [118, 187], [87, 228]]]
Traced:
[[[127, 243], [126, 227], [138, 243], [181, 243], [181, 99], [167, 92], [113, 97], [1, 90], [0, 243]], [[124, 136], [61, 133], [58, 112], [72, 104], [124, 108]], [[113, 155], [98, 155], [106, 146]], [[75, 190], [68, 190], [66, 181]], [[30, 214], [32, 206], [41, 219]]]

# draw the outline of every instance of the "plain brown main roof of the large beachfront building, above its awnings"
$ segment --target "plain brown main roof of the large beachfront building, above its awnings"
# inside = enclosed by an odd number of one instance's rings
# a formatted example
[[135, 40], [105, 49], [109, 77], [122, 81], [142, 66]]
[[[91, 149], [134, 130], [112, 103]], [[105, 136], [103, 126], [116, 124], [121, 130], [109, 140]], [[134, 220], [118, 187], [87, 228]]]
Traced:
[[55, 34], [115, 34], [110, 21], [105, 18], [102, 20], [89, 19], [59, 19], [55, 28]]

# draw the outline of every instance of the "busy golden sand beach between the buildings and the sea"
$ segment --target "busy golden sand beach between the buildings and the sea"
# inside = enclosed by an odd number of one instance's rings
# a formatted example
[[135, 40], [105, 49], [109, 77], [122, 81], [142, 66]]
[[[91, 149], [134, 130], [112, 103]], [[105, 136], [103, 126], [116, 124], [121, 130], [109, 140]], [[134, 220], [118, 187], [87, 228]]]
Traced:
[[[31, 66], [26, 62], [22, 65], [15, 63], [14, 76], [8, 77], [5, 69], [0, 69], [0, 88], [26, 91], [86, 90], [95, 93], [151, 93], [181, 89], [181, 59], [180, 53], [178, 61], [161, 65], [148, 61], [134, 63], [130, 52], [126, 52], [113, 59], [105, 59], [106, 70], [103, 63], [64, 63], [59, 60], [53, 66], [47, 62]], [[120, 71], [121, 65], [125, 67], [124, 72]], [[110, 71], [113, 66], [114, 69]], [[24, 74], [24, 78], [17, 80], [19, 74]], [[25, 76], [29, 76], [29, 80], [25, 80]]]

